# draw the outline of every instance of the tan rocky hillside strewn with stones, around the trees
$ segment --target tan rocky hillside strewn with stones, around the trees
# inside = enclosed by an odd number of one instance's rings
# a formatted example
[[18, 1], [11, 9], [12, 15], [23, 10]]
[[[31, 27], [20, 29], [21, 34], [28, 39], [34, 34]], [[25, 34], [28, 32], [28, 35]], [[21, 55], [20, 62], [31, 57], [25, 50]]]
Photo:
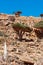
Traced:
[[[9, 16], [14, 17], [14, 21]], [[33, 28], [40, 17], [15, 17], [14, 15], [0, 14], [0, 65], [24, 65], [24, 62], [33, 63], [33, 65], [43, 65], [43, 38], [38, 39], [35, 32], [25, 33], [22, 42], [16, 39], [16, 33], [11, 23], [21, 22]], [[7, 23], [10, 25], [6, 26]], [[5, 37], [3, 35], [5, 34]], [[32, 40], [31, 40], [32, 39]], [[3, 59], [4, 42], [7, 43], [8, 56], [7, 61]]]

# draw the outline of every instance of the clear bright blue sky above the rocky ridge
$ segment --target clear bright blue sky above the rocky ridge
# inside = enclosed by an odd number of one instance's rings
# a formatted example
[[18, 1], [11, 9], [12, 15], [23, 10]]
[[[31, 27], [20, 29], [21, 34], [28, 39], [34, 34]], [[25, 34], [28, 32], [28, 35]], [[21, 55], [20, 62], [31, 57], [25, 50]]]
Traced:
[[0, 13], [22, 11], [23, 16], [39, 16], [43, 13], [43, 0], [0, 0]]

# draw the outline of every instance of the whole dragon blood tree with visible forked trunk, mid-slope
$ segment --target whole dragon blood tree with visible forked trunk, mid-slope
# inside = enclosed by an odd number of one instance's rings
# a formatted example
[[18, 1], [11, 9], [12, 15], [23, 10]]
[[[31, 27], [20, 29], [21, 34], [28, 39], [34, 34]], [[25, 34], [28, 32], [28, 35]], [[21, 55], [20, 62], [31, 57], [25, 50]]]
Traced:
[[15, 23], [15, 24], [13, 23], [12, 27], [16, 31], [20, 41], [22, 40], [22, 37], [23, 37], [25, 32], [32, 31], [32, 29], [30, 27], [28, 27], [22, 23]]

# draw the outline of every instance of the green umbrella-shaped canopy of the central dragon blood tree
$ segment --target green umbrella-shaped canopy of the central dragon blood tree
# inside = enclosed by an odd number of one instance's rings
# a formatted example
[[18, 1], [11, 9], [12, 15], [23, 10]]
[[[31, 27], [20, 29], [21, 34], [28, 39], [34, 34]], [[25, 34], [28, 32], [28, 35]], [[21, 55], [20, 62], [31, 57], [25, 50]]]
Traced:
[[22, 31], [25, 31], [25, 32], [31, 32], [32, 31], [32, 28], [30, 28], [29, 26], [22, 24], [22, 23], [12, 24], [12, 27], [15, 30], [22, 30]]

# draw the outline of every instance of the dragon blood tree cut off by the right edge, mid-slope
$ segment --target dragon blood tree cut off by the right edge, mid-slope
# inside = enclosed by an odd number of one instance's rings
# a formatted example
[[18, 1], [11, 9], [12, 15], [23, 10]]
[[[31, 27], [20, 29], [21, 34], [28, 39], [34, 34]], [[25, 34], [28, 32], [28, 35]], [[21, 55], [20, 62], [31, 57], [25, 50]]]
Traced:
[[40, 21], [34, 25], [35, 33], [39, 38], [43, 37], [43, 21]]

